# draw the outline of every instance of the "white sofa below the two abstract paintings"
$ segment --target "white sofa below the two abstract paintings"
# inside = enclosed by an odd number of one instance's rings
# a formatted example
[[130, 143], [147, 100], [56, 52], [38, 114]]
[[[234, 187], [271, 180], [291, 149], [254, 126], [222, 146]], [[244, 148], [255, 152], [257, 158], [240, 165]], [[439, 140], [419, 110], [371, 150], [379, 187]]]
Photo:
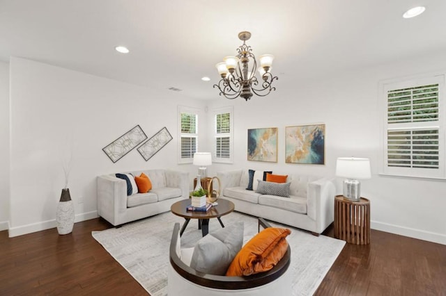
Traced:
[[217, 176], [222, 186], [220, 197], [233, 202], [235, 211], [305, 229], [316, 236], [334, 220], [335, 187], [328, 179], [288, 174], [286, 181], [291, 182], [288, 198], [246, 190], [248, 170], [218, 172]]

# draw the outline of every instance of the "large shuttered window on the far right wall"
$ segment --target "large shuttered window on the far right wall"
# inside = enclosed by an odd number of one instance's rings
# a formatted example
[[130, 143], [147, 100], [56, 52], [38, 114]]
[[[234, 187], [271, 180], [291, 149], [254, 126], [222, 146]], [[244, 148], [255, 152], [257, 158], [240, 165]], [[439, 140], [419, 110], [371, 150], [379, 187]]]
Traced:
[[383, 174], [445, 178], [444, 76], [383, 84]]

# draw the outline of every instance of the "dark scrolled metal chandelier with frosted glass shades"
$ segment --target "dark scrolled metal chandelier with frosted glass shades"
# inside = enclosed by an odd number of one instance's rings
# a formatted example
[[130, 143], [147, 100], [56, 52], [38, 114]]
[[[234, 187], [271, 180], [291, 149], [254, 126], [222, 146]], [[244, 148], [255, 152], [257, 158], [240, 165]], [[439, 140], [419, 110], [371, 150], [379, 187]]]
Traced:
[[[252, 54], [251, 47], [245, 44], [249, 38], [251, 38], [251, 33], [247, 31], [238, 33], [238, 39], [242, 40], [243, 44], [238, 47], [237, 56], [226, 56], [223, 59], [224, 62], [215, 65], [222, 79], [213, 87], [217, 87], [220, 95], [223, 94], [226, 99], [236, 99], [240, 96], [247, 101], [251, 99], [253, 93], [259, 97], [265, 97], [271, 90], [276, 89], [271, 86], [272, 81], [277, 80], [277, 76], [271, 74], [274, 56], [264, 54], [259, 57], [260, 79], [257, 79], [256, 57]], [[249, 71], [249, 65], [251, 71]]]

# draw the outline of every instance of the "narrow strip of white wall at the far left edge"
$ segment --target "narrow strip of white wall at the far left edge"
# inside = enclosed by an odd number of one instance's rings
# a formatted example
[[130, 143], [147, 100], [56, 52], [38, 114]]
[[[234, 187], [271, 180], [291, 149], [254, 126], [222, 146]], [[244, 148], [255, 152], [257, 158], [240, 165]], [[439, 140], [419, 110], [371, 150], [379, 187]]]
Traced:
[[0, 231], [9, 220], [9, 64], [0, 62]]

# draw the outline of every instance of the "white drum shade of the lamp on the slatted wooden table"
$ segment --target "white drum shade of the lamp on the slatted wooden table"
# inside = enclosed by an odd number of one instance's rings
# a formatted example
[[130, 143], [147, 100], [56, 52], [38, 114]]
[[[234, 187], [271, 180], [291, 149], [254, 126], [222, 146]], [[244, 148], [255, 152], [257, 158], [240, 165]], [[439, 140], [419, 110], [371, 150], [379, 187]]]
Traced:
[[347, 179], [370, 179], [371, 172], [369, 158], [337, 158], [336, 176], [341, 176]]

